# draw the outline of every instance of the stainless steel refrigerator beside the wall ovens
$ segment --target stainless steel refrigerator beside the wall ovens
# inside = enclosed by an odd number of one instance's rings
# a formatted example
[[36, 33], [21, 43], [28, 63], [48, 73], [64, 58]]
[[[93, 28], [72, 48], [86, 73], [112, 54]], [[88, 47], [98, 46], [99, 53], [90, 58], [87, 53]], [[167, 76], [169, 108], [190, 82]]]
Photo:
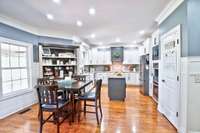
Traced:
[[140, 57], [140, 92], [149, 96], [149, 55]]

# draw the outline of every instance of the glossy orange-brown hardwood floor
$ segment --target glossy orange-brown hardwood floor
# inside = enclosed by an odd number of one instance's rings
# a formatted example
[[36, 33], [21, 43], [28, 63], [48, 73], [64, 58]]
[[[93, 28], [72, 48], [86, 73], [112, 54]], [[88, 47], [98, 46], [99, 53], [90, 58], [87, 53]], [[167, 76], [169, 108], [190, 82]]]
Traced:
[[[61, 133], [176, 133], [174, 127], [156, 110], [149, 97], [142, 96], [137, 87], [127, 88], [125, 102], [109, 101], [107, 88], [102, 88], [103, 120], [96, 124], [95, 114], [81, 115], [81, 122], [64, 122]], [[24, 114], [14, 114], [0, 120], [0, 133], [37, 133], [37, 106]], [[52, 123], [44, 125], [43, 133], [56, 133]]]

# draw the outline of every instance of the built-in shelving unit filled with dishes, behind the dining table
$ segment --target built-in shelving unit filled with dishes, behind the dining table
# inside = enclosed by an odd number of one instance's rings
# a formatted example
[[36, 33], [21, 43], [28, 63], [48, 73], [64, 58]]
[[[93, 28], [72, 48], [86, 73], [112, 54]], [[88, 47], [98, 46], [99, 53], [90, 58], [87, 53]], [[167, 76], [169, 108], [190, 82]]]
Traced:
[[77, 47], [40, 44], [40, 77], [60, 79], [77, 72]]

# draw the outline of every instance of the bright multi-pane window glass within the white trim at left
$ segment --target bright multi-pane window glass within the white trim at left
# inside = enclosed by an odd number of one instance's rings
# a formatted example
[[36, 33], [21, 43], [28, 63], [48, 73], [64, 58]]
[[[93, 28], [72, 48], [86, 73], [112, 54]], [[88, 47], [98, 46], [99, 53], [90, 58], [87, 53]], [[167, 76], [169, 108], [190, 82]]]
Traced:
[[28, 48], [1, 43], [2, 95], [29, 88]]

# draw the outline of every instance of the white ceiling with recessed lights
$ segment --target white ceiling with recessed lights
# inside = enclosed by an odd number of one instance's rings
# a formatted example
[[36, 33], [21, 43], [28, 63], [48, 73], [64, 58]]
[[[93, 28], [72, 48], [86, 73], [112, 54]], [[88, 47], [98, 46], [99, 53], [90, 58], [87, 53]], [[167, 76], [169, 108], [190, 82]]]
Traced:
[[[0, 0], [0, 14], [38, 29], [77, 36], [90, 44], [114, 43], [118, 37], [124, 43], [143, 41], [157, 27], [155, 18], [170, 0]], [[96, 15], [90, 16], [90, 7]], [[54, 20], [46, 19], [46, 14]], [[83, 22], [82, 27], [76, 21]], [[145, 35], [139, 31], [145, 30]], [[90, 35], [96, 34], [96, 38]]]

